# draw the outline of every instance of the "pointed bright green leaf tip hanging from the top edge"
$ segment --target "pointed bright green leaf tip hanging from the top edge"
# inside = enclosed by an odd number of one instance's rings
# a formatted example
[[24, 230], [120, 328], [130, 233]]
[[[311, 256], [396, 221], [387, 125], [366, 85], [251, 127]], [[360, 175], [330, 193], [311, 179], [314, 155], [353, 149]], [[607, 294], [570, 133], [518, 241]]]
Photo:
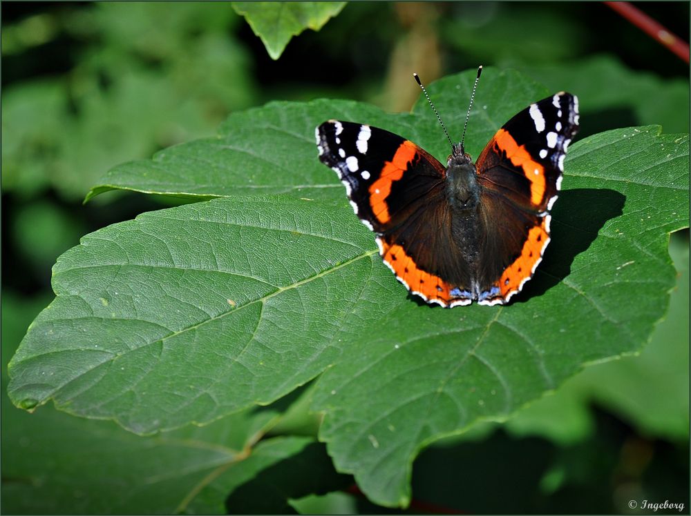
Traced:
[[271, 59], [278, 59], [293, 36], [309, 28], [319, 30], [341, 12], [345, 2], [233, 2], [254, 34], [261, 38]]

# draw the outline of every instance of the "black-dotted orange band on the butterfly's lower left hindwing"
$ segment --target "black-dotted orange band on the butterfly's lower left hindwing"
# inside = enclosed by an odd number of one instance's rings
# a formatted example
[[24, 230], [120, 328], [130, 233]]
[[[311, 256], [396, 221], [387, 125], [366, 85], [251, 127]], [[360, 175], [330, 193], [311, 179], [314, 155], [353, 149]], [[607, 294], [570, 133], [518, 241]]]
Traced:
[[417, 268], [415, 260], [406, 255], [404, 248], [397, 244], [387, 244], [379, 239], [381, 257], [393, 270], [399, 280], [405, 281], [408, 290], [421, 295], [428, 302], [436, 301], [442, 306], [448, 306], [457, 299], [451, 295], [453, 287], [440, 277]]

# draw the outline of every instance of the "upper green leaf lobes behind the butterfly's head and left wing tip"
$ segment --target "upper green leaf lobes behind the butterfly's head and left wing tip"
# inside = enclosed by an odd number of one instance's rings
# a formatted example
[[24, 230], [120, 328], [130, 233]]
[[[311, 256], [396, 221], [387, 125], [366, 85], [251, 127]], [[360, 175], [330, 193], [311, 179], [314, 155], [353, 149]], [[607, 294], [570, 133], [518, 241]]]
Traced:
[[[467, 148], [475, 156], [512, 115], [549, 94], [513, 70], [489, 70], [476, 96], [480, 108], [471, 113], [466, 135]], [[466, 75], [430, 86], [433, 94], [439, 92], [437, 108], [457, 138], [465, 117], [458, 105], [467, 103], [471, 87]], [[509, 90], [513, 95], [505, 95]], [[370, 123], [406, 135], [443, 157], [448, 155], [447, 144], [431, 114], [424, 98], [412, 114], [397, 115], [352, 101], [272, 102], [230, 115], [216, 138], [190, 141], [162, 150], [153, 159], [116, 166], [86, 199], [117, 188], [186, 197], [287, 193], [343, 200], [343, 186], [336, 175], [316, 159], [316, 126], [332, 118]]]

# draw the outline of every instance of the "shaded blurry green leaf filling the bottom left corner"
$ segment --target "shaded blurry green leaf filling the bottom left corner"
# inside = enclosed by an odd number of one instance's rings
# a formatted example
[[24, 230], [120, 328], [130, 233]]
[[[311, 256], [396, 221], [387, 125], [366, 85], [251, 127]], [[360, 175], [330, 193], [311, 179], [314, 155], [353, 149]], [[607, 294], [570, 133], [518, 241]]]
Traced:
[[111, 421], [2, 404], [4, 514], [172, 514], [232, 464], [275, 414], [140, 437]]

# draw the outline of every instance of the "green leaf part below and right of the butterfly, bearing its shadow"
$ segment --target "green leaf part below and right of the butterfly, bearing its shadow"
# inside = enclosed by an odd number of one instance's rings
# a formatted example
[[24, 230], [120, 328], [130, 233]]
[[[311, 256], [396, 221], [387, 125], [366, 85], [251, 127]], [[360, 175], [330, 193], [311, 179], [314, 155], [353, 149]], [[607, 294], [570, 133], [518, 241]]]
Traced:
[[674, 286], [668, 232], [688, 225], [688, 136], [658, 132], [614, 130], [573, 146], [553, 243], [518, 303], [448, 319], [411, 303], [350, 328], [315, 408], [337, 466], [370, 498], [406, 504], [419, 448], [509, 417], [583, 364], [647, 341]]

